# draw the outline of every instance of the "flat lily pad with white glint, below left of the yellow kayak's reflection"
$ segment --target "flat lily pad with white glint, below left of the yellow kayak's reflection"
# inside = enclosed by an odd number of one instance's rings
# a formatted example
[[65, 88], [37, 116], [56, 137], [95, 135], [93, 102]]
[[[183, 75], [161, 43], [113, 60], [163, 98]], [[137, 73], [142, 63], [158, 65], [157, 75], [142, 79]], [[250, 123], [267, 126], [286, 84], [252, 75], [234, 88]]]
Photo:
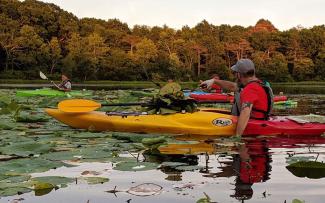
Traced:
[[151, 162], [120, 162], [114, 167], [118, 171], [148, 171], [157, 169], [158, 164]]

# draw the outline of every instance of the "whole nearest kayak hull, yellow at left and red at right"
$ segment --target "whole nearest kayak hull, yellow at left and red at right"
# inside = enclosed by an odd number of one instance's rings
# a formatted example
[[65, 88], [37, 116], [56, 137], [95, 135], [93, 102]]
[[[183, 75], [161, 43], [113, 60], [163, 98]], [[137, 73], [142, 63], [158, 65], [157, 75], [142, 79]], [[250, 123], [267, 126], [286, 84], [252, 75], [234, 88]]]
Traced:
[[[232, 136], [237, 117], [202, 110], [195, 113], [170, 115], [107, 115], [105, 112], [65, 113], [45, 109], [46, 113], [73, 128], [95, 131], [133, 133], [167, 133], [191, 135]], [[321, 135], [325, 124], [300, 124], [287, 117], [272, 117], [268, 121], [250, 120], [244, 135]]]

